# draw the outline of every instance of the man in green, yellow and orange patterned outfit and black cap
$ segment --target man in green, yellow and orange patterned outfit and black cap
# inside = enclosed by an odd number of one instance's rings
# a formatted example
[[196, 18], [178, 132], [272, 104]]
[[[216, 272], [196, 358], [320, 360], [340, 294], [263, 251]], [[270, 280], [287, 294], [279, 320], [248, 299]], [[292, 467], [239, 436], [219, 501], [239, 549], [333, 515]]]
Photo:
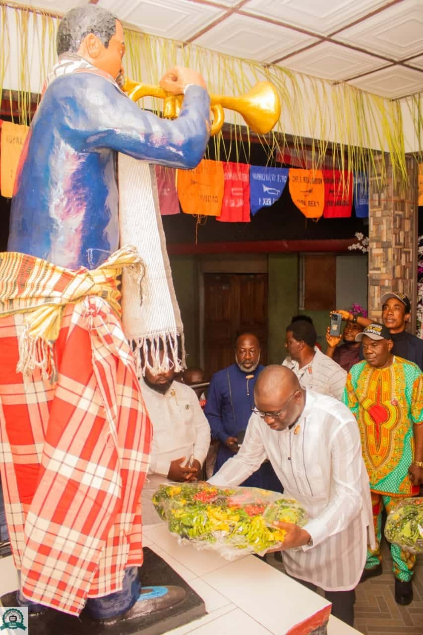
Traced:
[[[392, 304], [391, 298], [387, 302]], [[398, 314], [391, 305], [385, 310], [386, 316]], [[416, 364], [393, 355], [392, 335], [383, 324], [368, 324], [356, 341], [363, 344], [365, 360], [349, 371], [343, 401], [358, 422], [372, 491], [377, 549], [368, 551], [364, 582], [382, 573], [383, 509], [389, 512], [401, 498], [418, 495], [423, 483], [423, 374]], [[415, 556], [393, 544], [391, 554], [396, 602], [410, 604]]]

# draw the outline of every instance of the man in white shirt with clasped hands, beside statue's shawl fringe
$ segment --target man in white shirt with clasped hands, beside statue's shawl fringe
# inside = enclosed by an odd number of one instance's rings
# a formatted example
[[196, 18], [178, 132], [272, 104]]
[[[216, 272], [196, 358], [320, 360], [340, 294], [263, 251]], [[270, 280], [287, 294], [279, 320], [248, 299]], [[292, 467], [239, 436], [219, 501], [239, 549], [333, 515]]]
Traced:
[[142, 396], [152, 423], [149, 472], [142, 490], [142, 521], [158, 523], [151, 497], [160, 483], [198, 479], [210, 446], [210, 425], [196, 393], [173, 381], [173, 369], [154, 375], [149, 368], [142, 380]]

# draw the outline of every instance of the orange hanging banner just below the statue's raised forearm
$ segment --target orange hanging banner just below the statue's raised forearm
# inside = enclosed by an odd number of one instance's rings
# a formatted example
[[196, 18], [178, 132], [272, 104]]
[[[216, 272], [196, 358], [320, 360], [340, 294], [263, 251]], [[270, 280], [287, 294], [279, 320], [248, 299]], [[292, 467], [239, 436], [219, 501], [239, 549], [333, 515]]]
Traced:
[[185, 214], [220, 215], [224, 187], [222, 161], [203, 159], [194, 170], [178, 170], [178, 197]]

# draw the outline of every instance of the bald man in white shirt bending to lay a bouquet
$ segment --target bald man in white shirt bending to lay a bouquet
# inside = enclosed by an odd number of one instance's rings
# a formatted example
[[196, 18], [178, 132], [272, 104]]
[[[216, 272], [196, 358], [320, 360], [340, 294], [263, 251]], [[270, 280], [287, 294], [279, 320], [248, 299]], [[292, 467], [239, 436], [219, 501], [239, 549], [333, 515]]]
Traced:
[[304, 528], [279, 523], [286, 530], [286, 573], [324, 589], [333, 615], [352, 625], [367, 538], [374, 544], [356, 420], [337, 399], [302, 389], [283, 366], [267, 366], [260, 373], [254, 397], [243, 445], [209, 482], [238, 485], [268, 458], [284, 494], [309, 515]]

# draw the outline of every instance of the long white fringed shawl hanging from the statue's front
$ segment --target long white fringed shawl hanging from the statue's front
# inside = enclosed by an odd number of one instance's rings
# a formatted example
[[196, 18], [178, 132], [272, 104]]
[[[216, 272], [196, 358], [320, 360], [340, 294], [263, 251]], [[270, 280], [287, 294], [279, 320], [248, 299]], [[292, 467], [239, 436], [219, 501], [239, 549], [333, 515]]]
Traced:
[[[145, 265], [141, 286], [123, 271], [124, 334], [134, 353], [138, 377], [147, 367], [155, 372], [172, 367], [179, 372], [185, 368], [184, 328], [166, 251], [154, 166], [119, 154], [118, 171], [121, 247], [134, 245]], [[160, 349], [168, 355], [161, 355]]]

